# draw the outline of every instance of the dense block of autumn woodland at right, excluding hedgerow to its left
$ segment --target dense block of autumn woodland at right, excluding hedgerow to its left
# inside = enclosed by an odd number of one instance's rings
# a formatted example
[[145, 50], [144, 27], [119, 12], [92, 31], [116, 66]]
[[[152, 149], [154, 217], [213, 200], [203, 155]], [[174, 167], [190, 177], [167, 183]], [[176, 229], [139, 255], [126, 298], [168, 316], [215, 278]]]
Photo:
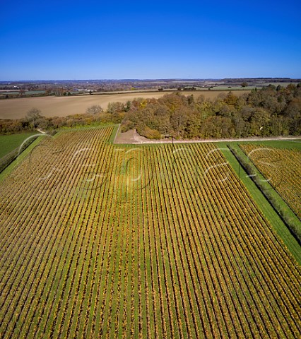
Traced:
[[269, 85], [240, 97], [231, 92], [216, 100], [180, 93], [136, 100], [122, 131], [136, 129], [146, 138], [239, 138], [301, 133], [301, 84]]

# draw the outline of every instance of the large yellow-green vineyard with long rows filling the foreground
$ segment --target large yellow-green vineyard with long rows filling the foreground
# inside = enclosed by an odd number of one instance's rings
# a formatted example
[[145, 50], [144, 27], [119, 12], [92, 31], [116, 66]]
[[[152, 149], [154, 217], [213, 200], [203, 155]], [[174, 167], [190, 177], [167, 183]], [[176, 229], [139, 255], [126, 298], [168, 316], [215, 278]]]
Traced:
[[1, 182], [0, 337], [300, 338], [300, 266], [220, 151], [112, 130]]

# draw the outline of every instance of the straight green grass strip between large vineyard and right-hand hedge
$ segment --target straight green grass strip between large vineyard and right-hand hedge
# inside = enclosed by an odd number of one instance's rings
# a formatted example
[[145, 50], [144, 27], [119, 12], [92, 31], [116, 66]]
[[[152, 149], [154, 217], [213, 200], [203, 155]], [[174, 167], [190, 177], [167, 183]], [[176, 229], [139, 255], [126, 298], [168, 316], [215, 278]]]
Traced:
[[[262, 144], [262, 142], [260, 142], [260, 143]], [[228, 160], [229, 164], [235, 170], [236, 174], [240, 177], [241, 182], [243, 182], [243, 184], [247, 187], [249, 193], [254, 198], [254, 201], [257, 203], [257, 205], [261, 209], [261, 212], [264, 213], [266, 218], [269, 220], [269, 222], [273, 226], [274, 230], [276, 230], [278, 235], [283, 240], [285, 246], [288, 247], [290, 253], [293, 254], [293, 256], [295, 257], [297, 262], [299, 264], [301, 264], [301, 249], [300, 249], [300, 245], [297, 242], [297, 239], [295, 239], [293, 234], [290, 233], [290, 230], [288, 230], [288, 227], [286, 227], [283, 220], [281, 220], [281, 218], [276, 213], [274, 208], [266, 200], [266, 197], [264, 196], [264, 194], [261, 193], [261, 191], [257, 188], [257, 186], [254, 184], [252, 179], [250, 179], [248, 177], [248, 174], [246, 172], [244, 172], [244, 169], [242, 169], [242, 167], [240, 166], [240, 164], [237, 161], [237, 159], [235, 158], [235, 156], [232, 155], [230, 150], [227, 150], [228, 144], [230, 144], [232, 147], [240, 150], [237, 142], [235, 142], [235, 143], [217, 143], [216, 145], [218, 146], [218, 148], [222, 148], [221, 152], [223, 153], [223, 155], [225, 155], [225, 158]], [[242, 152], [242, 150], [240, 150], [240, 151]], [[276, 191], [275, 191], [275, 193], [276, 193]], [[281, 201], [284, 203], [284, 201], [282, 199], [281, 199]], [[291, 213], [293, 213], [293, 212], [291, 212]]]

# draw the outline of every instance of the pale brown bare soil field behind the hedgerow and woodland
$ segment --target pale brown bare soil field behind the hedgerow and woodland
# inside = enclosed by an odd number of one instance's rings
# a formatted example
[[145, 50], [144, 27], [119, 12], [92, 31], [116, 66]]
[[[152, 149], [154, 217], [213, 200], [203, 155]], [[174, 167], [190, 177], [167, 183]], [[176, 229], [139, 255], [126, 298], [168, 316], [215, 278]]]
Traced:
[[[245, 90], [233, 90], [235, 95], [248, 93]], [[20, 119], [25, 117], [29, 109], [36, 107], [40, 109], [45, 117], [66, 117], [73, 114], [83, 114], [85, 110], [92, 105], [100, 105], [103, 109], [107, 109], [109, 102], [126, 102], [134, 100], [136, 97], [159, 98], [170, 92], [155, 93], [122, 93], [113, 95], [83, 95], [76, 97], [28, 97], [20, 99], [0, 100], [0, 119]], [[185, 91], [182, 94], [198, 97], [204, 95], [206, 98], [214, 99], [220, 93], [227, 91]]]

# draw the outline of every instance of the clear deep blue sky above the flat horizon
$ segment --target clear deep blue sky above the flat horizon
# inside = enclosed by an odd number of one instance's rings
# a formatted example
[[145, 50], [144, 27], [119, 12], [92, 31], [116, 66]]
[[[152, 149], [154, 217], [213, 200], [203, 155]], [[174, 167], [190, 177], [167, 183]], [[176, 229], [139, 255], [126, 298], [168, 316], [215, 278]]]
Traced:
[[0, 0], [0, 80], [301, 78], [300, 18], [300, 0]]

